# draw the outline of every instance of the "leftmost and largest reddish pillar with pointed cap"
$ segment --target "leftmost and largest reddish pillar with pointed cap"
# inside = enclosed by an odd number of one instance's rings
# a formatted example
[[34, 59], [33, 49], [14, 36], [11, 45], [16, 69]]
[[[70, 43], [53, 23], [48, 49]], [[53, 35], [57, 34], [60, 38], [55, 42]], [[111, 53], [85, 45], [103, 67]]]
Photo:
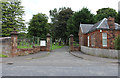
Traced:
[[14, 28], [14, 31], [11, 32], [11, 45], [12, 45], [12, 49], [11, 49], [11, 56], [17, 56], [17, 38], [18, 38], [18, 33], [16, 31], [16, 29]]

